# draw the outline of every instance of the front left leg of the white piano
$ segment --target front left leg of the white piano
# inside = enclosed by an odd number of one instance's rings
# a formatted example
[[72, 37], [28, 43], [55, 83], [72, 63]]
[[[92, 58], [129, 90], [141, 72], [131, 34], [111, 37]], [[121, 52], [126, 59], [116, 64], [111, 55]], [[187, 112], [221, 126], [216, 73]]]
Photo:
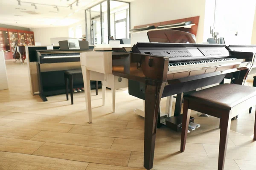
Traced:
[[91, 93], [90, 93], [90, 71], [85, 66], [81, 66], [84, 79], [84, 95], [86, 102], [86, 116], [88, 123], [92, 122], [92, 104], [91, 104]]

